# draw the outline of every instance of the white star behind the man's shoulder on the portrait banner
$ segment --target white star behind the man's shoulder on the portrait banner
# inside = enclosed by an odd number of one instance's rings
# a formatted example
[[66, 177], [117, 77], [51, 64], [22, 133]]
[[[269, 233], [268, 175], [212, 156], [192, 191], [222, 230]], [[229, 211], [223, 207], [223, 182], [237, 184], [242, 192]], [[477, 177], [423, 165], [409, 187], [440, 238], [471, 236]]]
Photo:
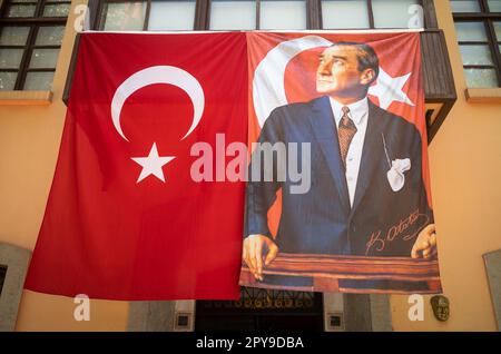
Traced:
[[407, 95], [402, 90], [411, 73], [409, 72], [404, 76], [392, 78], [380, 67], [377, 83], [369, 88], [369, 95], [376, 96], [380, 99], [380, 107], [383, 109], [389, 108], [393, 101], [414, 106]]

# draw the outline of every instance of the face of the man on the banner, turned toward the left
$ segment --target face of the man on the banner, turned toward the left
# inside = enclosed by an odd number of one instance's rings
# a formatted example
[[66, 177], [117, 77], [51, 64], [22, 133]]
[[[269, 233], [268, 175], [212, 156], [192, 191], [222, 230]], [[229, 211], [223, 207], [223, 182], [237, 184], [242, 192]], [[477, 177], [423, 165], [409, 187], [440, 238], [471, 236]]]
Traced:
[[370, 80], [366, 71], [358, 71], [357, 49], [354, 46], [334, 46], [320, 56], [316, 70], [316, 91], [338, 97], [357, 97]]

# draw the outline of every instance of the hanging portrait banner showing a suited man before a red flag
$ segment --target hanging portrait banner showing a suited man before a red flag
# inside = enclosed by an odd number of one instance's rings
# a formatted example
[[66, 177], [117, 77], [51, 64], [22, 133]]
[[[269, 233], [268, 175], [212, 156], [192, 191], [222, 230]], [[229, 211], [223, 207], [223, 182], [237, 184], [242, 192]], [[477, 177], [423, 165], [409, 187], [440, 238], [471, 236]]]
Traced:
[[240, 285], [440, 293], [419, 32], [248, 32]]

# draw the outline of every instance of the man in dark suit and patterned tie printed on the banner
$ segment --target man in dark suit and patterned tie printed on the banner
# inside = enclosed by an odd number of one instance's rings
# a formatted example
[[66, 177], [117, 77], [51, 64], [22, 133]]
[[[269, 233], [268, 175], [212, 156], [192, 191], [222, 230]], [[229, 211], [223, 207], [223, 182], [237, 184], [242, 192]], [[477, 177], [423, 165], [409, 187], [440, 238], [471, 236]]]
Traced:
[[[261, 144], [311, 144], [311, 188], [294, 194], [289, 176], [265, 181], [250, 171], [243, 258], [257, 279], [278, 252], [435, 255], [421, 136], [414, 125], [367, 99], [377, 73], [379, 59], [370, 46], [334, 43], [321, 55], [317, 69], [316, 89], [325, 96], [278, 107], [263, 126]], [[261, 151], [254, 151], [253, 160], [256, 154]], [[279, 189], [282, 214], [274, 239], [267, 213]]]

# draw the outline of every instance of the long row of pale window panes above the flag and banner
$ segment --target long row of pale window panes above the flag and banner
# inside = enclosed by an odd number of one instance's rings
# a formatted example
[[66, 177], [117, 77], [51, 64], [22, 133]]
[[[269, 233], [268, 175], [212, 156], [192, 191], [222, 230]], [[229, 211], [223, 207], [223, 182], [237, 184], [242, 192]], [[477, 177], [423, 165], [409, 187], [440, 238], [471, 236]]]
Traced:
[[[102, 0], [98, 28], [305, 30], [424, 27], [422, 0]], [[323, 23], [323, 26], [322, 26]]]

